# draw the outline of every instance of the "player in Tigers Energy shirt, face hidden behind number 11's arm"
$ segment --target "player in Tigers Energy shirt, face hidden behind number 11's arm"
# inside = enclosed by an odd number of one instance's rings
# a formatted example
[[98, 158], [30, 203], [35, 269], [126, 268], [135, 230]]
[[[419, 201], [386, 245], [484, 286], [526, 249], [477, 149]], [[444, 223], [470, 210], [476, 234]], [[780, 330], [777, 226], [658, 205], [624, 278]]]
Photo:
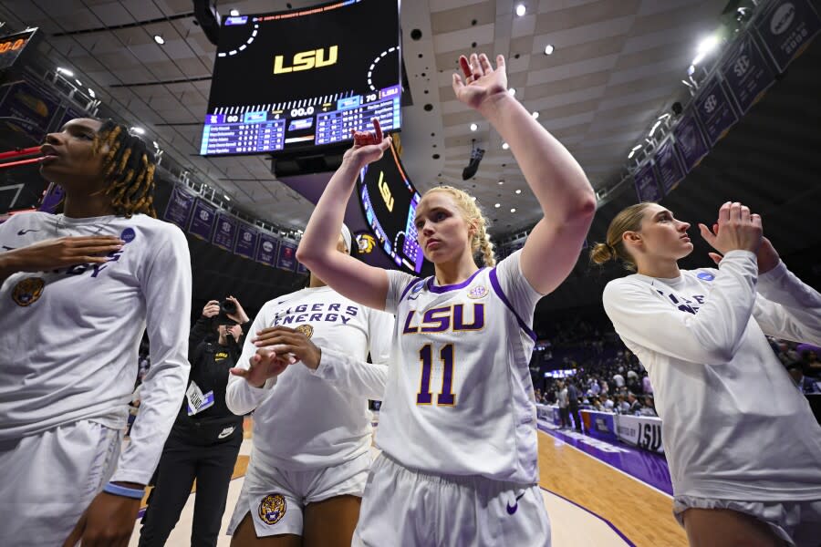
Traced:
[[[350, 245], [343, 227], [340, 255]], [[315, 274], [260, 310], [226, 395], [235, 414], [255, 411], [232, 545], [350, 545], [371, 462], [368, 399], [384, 393], [392, 331], [393, 317]]]

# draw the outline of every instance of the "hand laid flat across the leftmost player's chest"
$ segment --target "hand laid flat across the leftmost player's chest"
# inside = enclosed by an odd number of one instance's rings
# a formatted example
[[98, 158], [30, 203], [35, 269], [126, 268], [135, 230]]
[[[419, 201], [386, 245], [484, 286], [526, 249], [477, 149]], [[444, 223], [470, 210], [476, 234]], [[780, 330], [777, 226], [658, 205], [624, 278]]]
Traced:
[[85, 263], [108, 262], [108, 254], [125, 244], [113, 235], [60, 237], [26, 245], [3, 253], [8, 267], [16, 272], [43, 272]]

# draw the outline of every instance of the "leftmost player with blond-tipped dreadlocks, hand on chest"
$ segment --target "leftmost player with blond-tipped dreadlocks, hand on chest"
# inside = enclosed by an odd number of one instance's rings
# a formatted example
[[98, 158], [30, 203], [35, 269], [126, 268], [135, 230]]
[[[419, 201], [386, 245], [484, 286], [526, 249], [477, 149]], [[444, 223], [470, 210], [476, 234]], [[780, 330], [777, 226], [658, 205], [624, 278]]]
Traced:
[[151, 152], [124, 126], [72, 119], [42, 151], [64, 213], [0, 225], [0, 545], [126, 545], [188, 377], [188, 244], [154, 218]]

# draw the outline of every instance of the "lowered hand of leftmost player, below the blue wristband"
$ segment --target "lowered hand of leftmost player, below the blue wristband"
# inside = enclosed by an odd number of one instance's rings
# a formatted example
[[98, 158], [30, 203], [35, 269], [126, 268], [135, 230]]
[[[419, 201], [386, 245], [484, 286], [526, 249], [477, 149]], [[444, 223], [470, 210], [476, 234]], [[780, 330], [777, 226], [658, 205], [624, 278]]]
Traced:
[[63, 547], [128, 547], [140, 500], [100, 492], [80, 517]]

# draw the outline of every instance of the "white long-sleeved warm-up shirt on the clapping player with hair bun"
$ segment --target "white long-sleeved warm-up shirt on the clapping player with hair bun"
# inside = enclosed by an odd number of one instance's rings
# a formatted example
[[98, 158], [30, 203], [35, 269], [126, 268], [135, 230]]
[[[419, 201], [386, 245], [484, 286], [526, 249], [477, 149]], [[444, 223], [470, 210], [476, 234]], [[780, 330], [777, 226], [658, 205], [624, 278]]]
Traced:
[[720, 270], [611, 281], [604, 306], [650, 375], [677, 496], [821, 500], [821, 428], [764, 336], [821, 343], [821, 295], [733, 251]]

